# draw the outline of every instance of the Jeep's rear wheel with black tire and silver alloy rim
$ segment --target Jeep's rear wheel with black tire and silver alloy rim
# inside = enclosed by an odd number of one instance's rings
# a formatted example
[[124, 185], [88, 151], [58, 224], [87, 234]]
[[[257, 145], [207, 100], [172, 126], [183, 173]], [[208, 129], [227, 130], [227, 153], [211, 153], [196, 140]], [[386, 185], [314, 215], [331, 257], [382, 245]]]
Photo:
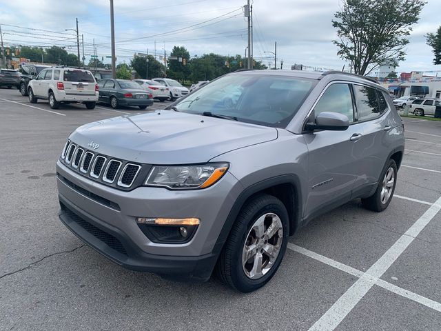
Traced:
[[382, 172], [380, 183], [378, 183], [375, 193], [366, 199], [361, 199], [363, 207], [382, 212], [391, 203], [393, 192], [397, 183], [397, 165], [392, 159], [387, 163], [386, 169]]

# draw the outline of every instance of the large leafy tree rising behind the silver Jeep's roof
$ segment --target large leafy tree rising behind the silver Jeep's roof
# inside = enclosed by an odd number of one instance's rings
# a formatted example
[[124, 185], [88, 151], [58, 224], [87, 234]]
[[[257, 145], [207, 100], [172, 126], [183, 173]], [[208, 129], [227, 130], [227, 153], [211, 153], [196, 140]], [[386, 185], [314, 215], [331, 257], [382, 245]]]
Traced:
[[418, 22], [423, 0], [343, 0], [332, 21], [337, 28], [337, 54], [356, 74], [369, 74], [381, 63], [404, 60], [405, 37]]

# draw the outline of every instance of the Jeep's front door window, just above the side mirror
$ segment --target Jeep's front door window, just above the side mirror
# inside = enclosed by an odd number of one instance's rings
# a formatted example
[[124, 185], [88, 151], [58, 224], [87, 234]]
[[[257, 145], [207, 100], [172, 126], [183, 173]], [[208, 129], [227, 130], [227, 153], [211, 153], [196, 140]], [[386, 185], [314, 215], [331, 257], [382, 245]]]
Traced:
[[314, 108], [314, 116], [320, 112], [340, 112], [353, 122], [351, 90], [348, 84], [336, 83], [327, 88]]

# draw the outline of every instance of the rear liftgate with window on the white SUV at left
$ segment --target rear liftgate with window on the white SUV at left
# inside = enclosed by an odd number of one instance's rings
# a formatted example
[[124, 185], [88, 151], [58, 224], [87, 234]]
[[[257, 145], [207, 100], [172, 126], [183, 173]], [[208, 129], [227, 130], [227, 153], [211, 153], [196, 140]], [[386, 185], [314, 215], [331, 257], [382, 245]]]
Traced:
[[81, 97], [95, 95], [95, 79], [91, 72], [79, 69], [63, 70], [63, 84], [66, 96]]

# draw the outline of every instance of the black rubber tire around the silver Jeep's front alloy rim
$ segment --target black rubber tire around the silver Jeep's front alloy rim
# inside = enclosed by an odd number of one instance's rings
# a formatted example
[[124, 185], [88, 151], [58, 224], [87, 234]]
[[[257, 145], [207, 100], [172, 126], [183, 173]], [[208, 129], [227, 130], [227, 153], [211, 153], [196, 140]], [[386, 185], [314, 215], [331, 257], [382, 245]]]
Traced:
[[[283, 234], [281, 239], [276, 239], [276, 241], [281, 240], [280, 248], [277, 257], [269, 270], [267, 270], [267, 272], [260, 278], [252, 279], [245, 274], [246, 264], [243, 264], [242, 261], [243, 250], [245, 248], [245, 242], [250, 238], [254, 223], [267, 213], [275, 214], [281, 221], [280, 228], [283, 230]], [[240, 210], [233, 228], [229, 233], [227, 242], [225, 243], [222, 252], [220, 252], [218, 263], [216, 265], [216, 274], [218, 275], [218, 278], [240, 292], [252, 292], [262, 287], [274, 276], [283, 259], [283, 255], [287, 248], [288, 234], [288, 212], [282, 201], [268, 194], [262, 194], [252, 199], [243, 206], [242, 210]], [[274, 236], [275, 235], [276, 234], [274, 234]], [[271, 237], [271, 240], [273, 238], [275, 237]], [[265, 241], [265, 243], [267, 243], [267, 241]], [[257, 254], [265, 257], [266, 255], [262, 255], [263, 250], [260, 250], [262, 253], [259, 253], [259, 249], [260, 248], [257, 248]]]

